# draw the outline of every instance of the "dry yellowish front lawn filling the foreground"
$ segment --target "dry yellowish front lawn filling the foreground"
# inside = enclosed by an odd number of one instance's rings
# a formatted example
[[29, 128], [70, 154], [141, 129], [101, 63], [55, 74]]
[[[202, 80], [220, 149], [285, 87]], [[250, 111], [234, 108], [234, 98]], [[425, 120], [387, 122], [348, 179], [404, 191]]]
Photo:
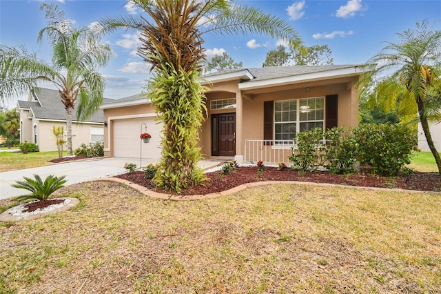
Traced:
[[0, 293], [441, 292], [440, 194], [280, 184], [168, 202], [104, 182], [60, 194], [81, 203], [0, 225]]

